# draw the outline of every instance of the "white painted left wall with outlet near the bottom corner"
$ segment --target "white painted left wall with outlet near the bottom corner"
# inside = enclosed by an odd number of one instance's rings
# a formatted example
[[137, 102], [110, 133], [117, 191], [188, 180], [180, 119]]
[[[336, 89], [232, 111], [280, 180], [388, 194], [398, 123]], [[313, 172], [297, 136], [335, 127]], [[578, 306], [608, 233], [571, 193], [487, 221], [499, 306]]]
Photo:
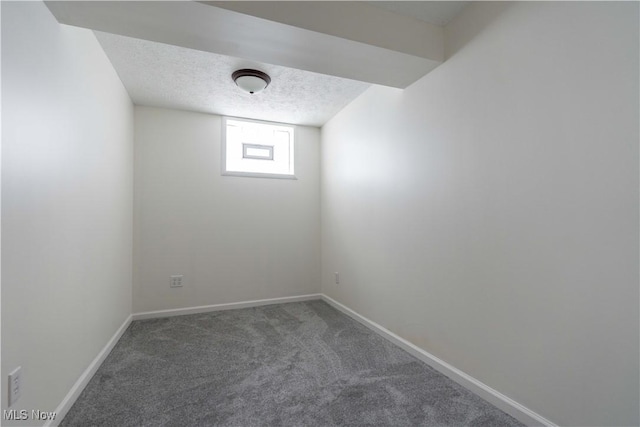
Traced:
[[40, 2], [1, 7], [2, 409], [22, 366], [11, 409], [30, 417], [131, 313], [133, 105], [93, 33]]

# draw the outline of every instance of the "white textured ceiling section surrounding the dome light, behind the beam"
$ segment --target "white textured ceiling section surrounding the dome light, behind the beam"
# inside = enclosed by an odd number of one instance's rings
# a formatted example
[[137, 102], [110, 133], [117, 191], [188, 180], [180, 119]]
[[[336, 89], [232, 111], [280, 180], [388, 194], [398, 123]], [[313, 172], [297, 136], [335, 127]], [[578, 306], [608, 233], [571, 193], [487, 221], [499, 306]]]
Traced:
[[[369, 87], [359, 81], [95, 32], [137, 105], [322, 126]], [[231, 79], [240, 68], [271, 76], [249, 95]]]

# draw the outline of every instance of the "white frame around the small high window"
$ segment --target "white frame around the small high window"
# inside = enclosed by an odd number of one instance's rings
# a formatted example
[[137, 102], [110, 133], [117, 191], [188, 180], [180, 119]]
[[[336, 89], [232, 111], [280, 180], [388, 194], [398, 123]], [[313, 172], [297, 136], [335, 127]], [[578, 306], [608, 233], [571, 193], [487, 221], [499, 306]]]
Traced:
[[[292, 173], [291, 174], [277, 174], [277, 173], [266, 173], [266, 172], [245, 172], [245, 171], [236, 171], [236, 170], [227, 170], [227, 121], [238, 121], [238, 122], [247, 122], [247, 123], [259, 123], [269, 126], [277, 126], [277, 127], [285, 127], [290, 129], [291, 141], [289, 145], [289, 158], [293, 162], [291, 166]], [[296, 127], [294, 125], [286, 124], [286, 123], [276, 123], [276, 122], [266, 122], [262, 120], [252, 120], [252, 119], [243, 119], [238, 117], [223, 117], [222, 118], [222, 144], [221, 144], [221, 170], [222, 175], [224, 176], [240, 176], [240, 177], [249, 177], [249, 178], [276, 178], [276, 179], [297, 179], [295, 176], [295, 130]], [[242, 158], [258, 160], [258, 161], [272, 161], [274, 159], [274, 147], [262, 145], [259, 143], [253, 142], [243, 142], [242, 143]], [[270, 158], [267, 157], [258, 157], [247, 155], [247, 148], [268, 148], [270, 149]]]

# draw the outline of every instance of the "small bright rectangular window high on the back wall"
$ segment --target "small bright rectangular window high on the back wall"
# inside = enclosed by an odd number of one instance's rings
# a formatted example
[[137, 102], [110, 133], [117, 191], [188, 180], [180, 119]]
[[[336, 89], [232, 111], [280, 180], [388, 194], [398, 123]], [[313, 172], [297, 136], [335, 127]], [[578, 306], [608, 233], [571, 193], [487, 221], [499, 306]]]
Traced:
[[225, 118], [222, 174], [295, 179], [293, 126]]

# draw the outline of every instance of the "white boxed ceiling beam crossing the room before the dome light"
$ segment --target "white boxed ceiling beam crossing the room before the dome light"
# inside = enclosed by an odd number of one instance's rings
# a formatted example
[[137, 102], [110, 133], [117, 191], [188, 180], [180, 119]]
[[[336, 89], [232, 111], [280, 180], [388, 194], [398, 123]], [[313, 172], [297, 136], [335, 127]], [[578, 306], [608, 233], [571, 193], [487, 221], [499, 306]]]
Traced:
[[[421, 39], [422, 44], [436, 46], [421, 51], [417, 47], [420, 43], [403, 44], [399, 37], [394, 48], [394, 43], [385, 44], [373, 36], [367, 39], [364, 29], [346, 34], [346, 21], [333, 28], [327, 25], [323, 30], [330, 33], [327, 34], [318, 31], [322, 29], [319, 24], [313, 27], [315, 30], [301, 28], [193, 1], [49, 1], [46, 4], [63, 24], [396, 88], [407, 87], [442, 62], [442, 49], [437, 48], [442, 46], [442, 38], [433, 39], [439, 40], [437, 42]], [[299, 14], [302, 9], [298, 8], [303, 5], [296, 6]], [[312, 11], [319, 13], [319, 6], [314, 7]], [[381, 29], [386, 24], [373, 21], [367, 25]], [[381, 44], [384, 46], [378, 46]], [[401, 49], [400, 45], [404, 47]]]

